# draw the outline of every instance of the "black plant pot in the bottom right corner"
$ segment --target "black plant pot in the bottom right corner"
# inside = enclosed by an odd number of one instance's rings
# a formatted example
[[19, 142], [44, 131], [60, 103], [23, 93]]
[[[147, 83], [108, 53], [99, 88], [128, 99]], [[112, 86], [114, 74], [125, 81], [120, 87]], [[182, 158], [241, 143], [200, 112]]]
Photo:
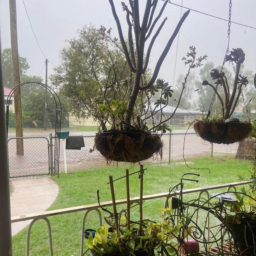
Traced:
[[241, 255], [254, 255], [256, 244], [254, 245], [253, 240], [256, 241], [256, 225], [231, 224], [230, 230]]

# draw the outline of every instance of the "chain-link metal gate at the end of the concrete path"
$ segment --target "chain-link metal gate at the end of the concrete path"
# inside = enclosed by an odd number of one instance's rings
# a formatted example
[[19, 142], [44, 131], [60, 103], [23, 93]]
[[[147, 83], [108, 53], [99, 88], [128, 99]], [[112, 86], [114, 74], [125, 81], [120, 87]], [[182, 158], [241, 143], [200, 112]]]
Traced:
[[[23, 140], [24, 155], [16, 154], [16, 143]], [[8, 139], [10, 178], [39, 176], [53, 172], [52, 145], [46, 137], [14, 137]]]

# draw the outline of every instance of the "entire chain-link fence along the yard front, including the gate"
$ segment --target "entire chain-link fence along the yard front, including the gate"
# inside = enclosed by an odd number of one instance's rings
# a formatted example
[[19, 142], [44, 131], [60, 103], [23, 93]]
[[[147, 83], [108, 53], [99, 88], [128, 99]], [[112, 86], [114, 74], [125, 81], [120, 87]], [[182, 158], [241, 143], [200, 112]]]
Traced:
[[[163, 163], [182, 161], [202, 156], [227, 156], [236, 154], [238, 144], [230, 145], [211, 144], [198, 137], [195, 133], [189, 134], [164, 134]], [[8, 140], [10, 177], [33, 176], [50, 174], [52, 170], [52, 154], [54, 154], [54, 137], [50, 140], [46, 137], [24, 137], [24, 156], [16, 154], [17, 138]], [[64, 171], [63, 140], [60, 140], [59, 171]], [[85, 147], [81, 150], [65, 150], [67, 172], [82, 170], [96, 171], [100, 167], [106, 167], [107, 162], [97, 150], [89, 152], [94, 145], [94, 136], [83, 136]], [[65, 143], [64, 143], [65, 146]], [[147, 163], [157, 163], [160, 157], [147, 160]], [[111, 165], [125, 166], [126, 163], [112, 162]]]

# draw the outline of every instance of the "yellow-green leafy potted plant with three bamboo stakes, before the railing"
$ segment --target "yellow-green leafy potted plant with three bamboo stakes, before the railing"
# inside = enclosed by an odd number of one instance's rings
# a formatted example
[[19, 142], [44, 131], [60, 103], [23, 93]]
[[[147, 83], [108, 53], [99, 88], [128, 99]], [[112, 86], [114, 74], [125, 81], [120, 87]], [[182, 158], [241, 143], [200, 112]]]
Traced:
[[[161, 209], [164, 213], [162, 221], [152, 221], [143, 219], [143, 175], [145, 169], [140, 166], [140, 171], [129, 174], [126, 170], [126, 193], [127, 193], [127, 208], [117, 212], [114, 182], [112, 176], [109, 176], [109, 184], [111, 188], [111, 196], [113, 202], [113, 213], [103, 208], [100, 205], [99, 191], [98, 204], [103, 211], [106, 211], [109, 216], [104, 217], [106, 224], [102, 225], [95, 232], [88, 230], [88, 248], [91, 256], [112, 255], [112, 256], [153, 256], [153, 255], [178, 255], [180, 250], [180, 234], [184, 229], [182, 221], [176, 223], [171, 215], [171, 210], [178, 208], [177, 200], [173, 200], [171, 206]], [[130, 220], [130, 188], [129, 176], [139, 173], [140, 179], [140, 195], [139, 195], [139, 221]], [[118, 178], [117, 180], [119, 180]], [[137, 204], [136, 204], [137, 205]], [[135, 206], [136, 206], [135, 205]], [[168, 216], [166, 217], [165, 214]], [[87, 230], [85, 230], [87, 232]]]

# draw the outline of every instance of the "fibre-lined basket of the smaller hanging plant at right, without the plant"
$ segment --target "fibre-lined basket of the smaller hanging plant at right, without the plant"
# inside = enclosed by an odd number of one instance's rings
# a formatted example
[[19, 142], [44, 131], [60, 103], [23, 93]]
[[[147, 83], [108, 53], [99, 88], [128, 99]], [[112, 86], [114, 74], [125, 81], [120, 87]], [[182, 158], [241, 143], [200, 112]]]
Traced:
[[250, 122], [209, 122], [197, 120], [194, 124], [197, 135], [218, 144], [231, 144], [245, 139], [252, 125]]

